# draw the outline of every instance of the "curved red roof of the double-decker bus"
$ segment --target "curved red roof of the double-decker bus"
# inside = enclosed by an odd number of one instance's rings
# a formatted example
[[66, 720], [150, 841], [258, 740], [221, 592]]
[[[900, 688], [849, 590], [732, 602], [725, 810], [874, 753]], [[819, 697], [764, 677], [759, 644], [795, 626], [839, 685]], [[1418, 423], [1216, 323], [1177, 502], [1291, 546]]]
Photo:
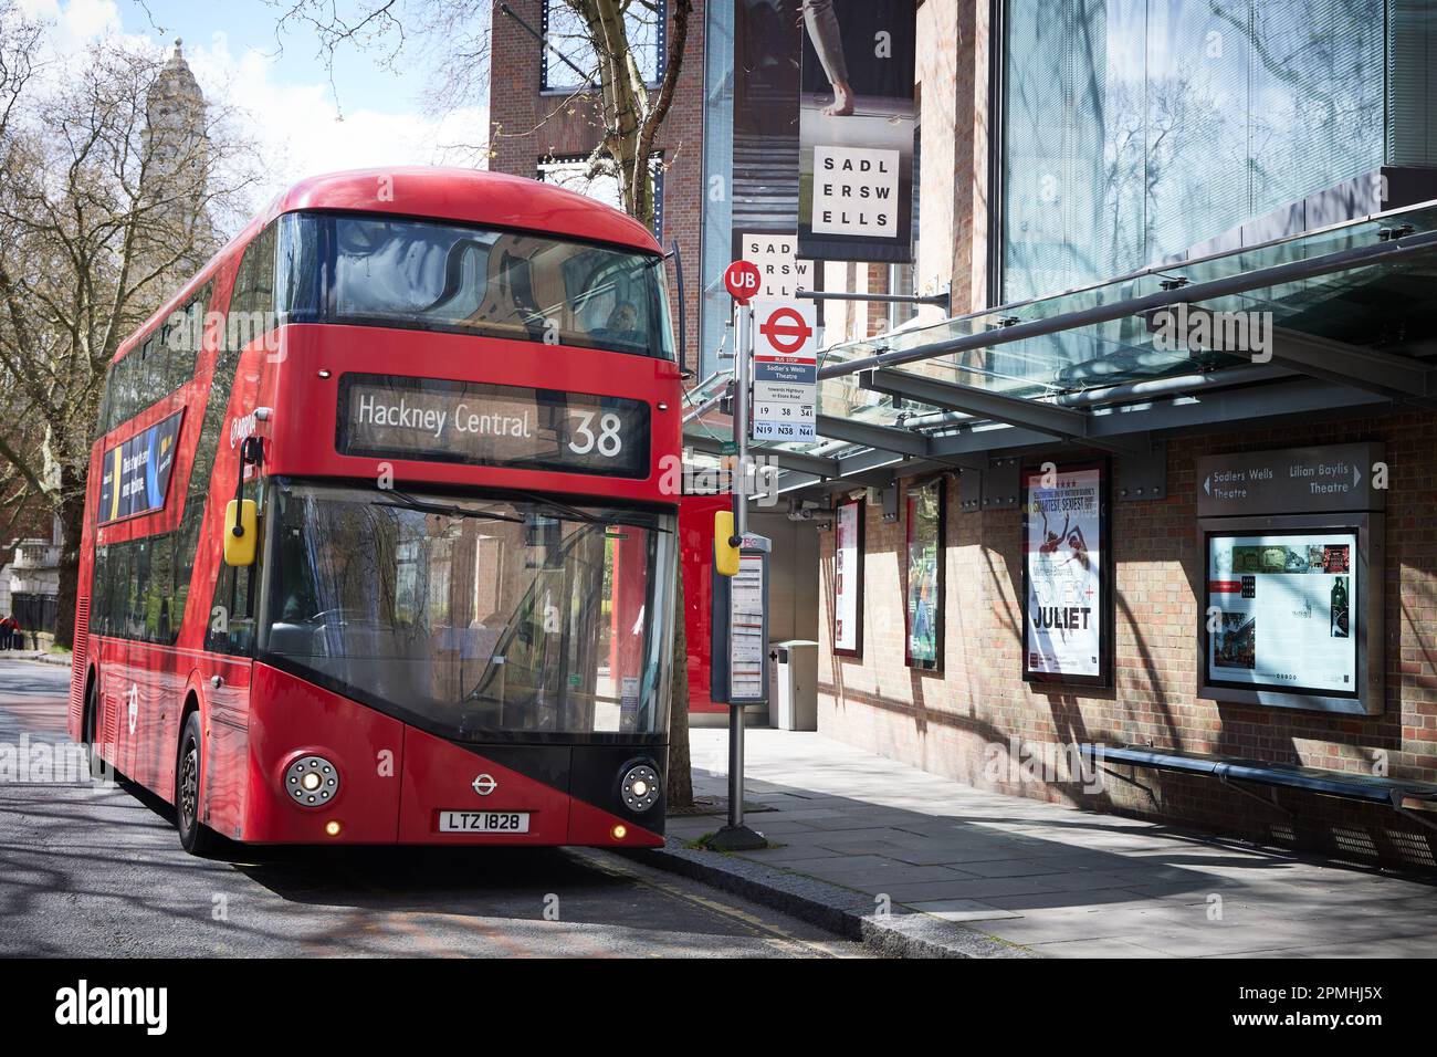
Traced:
[[555, 184], [474, 168], [417, 165], [309, 177], [280, 194], [264, 220], [309, 209], [519, 227], [661, 252], [644, 224], [616, 209]]

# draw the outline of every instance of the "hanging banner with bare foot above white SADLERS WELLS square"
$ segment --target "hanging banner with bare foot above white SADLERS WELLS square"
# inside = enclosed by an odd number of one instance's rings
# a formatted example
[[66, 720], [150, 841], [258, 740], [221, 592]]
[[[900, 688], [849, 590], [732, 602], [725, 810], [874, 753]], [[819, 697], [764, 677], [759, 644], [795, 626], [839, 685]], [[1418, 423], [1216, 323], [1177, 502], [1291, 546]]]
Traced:
[[802, 9], [798, 256], [910, 262], [917, 6]]

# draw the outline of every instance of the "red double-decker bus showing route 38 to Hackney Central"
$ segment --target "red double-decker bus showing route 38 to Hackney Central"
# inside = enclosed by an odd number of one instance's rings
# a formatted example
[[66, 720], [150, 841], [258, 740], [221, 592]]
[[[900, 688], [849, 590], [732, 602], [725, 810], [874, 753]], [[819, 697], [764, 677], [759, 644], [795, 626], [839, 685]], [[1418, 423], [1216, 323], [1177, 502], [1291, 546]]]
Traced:
[[661, 843], [680, 385], [629, 217], [296, 186], [111, 367], [72, 735], [191, 851]]

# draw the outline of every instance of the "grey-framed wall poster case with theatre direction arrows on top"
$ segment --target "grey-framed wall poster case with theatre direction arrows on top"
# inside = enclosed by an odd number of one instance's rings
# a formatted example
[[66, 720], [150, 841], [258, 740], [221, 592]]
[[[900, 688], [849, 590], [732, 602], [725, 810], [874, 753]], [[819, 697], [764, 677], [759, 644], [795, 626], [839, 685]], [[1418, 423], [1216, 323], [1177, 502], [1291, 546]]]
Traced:
[[1377, 444], [1198, 460], [1200, 696], [1382, 712], [1380, 462]]

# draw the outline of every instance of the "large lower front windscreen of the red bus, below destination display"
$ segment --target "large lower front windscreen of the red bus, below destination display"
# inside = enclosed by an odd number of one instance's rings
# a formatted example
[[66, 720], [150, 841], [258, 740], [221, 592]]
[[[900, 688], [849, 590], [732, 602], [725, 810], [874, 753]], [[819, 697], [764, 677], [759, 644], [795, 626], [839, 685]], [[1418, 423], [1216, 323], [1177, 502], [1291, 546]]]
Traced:
[[273, 516], [262, 656], [458, 741], [665, 729], [671, 515], [287, 482]]

